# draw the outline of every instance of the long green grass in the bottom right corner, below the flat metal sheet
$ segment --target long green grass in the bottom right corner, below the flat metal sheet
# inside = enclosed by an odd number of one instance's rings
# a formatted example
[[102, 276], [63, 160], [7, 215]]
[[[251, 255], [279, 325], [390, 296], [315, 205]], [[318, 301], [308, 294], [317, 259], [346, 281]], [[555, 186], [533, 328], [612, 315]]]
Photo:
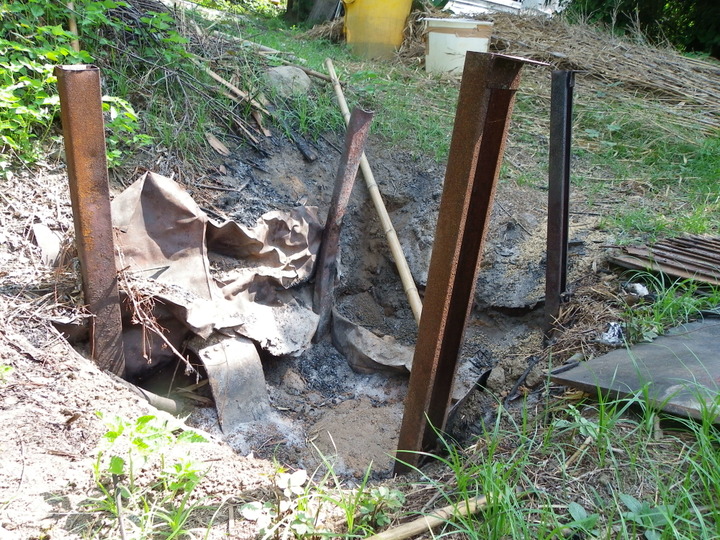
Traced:
[[473, 447], [441, 438], [442, 452], [430, 457], [450, 480], [419, 471], [445, 504], [488, 499], [477, 514], [447, 520], [437, 537], [716, 538], [719, 406], [674, 431], [660, 428], [643, 392], [555, 403], [545, 416], [524, 409], [520, 420], [501, 407]]

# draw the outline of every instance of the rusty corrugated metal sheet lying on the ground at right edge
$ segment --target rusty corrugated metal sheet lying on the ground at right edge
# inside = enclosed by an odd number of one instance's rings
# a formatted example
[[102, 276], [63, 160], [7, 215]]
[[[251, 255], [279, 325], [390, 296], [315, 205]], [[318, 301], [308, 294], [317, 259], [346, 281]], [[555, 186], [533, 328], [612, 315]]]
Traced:
[[615, 264], [633, 270], [654, 270], [669, 276], [720, 285], [720, 238], [684, 236], [652, 246], [626, 246], [611, 257]]

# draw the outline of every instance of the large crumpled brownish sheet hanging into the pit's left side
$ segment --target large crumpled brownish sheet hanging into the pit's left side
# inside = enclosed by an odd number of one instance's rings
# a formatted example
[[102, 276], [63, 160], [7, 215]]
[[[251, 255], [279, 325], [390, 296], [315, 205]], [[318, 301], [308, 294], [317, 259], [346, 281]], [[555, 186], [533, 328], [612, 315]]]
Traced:
[[[275, 356], [310, 346], [311, 298], [289, 288], [312, 274], [322, 234], [316, 208], [268, 212], [252, 228], [218, 225], [179, 184], [146, 173], [113, 200], [112, 216], [117, 267], [145, 278], [198, 336], [237, 332]], [[225, 259], [219, 280], [211, 257]]]

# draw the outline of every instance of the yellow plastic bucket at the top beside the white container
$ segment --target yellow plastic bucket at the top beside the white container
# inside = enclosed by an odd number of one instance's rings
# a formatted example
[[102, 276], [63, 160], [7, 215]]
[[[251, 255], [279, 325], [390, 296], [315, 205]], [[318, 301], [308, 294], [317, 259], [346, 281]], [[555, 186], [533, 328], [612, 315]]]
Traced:
[[363, 58], [392, 58], [403, 41], [412, 0], [343, 0], [345, 39]]

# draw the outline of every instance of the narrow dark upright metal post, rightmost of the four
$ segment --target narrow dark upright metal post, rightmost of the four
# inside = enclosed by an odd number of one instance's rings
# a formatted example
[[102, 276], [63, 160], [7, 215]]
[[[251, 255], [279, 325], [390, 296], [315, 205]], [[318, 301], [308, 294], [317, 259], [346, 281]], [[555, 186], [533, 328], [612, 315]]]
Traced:
[[552, 337], [567, 288], [570, 146], [574, 71], [553, 71], [550, 94], [547, 266], [545, 271], [545, 339]]

